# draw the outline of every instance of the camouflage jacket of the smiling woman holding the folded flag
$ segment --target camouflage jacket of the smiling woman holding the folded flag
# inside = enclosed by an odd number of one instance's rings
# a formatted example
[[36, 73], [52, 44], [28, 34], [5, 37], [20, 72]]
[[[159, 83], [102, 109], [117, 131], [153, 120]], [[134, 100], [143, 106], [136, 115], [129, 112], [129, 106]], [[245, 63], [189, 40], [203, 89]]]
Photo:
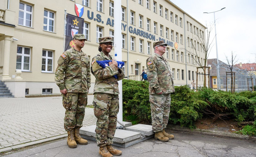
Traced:
[[[112, 60], [112, 57], [107, 57], [103, 52], [100, 52], [92, 58], [91, 72], [96, 78], [93, 93], [119, 94], [117, 81], [124, 78], [122, 69], [117, 68], [113, 64], [102, 68], [96, 60]], [[117, 75], [118, 78], [114, 78], [114, 75]]]

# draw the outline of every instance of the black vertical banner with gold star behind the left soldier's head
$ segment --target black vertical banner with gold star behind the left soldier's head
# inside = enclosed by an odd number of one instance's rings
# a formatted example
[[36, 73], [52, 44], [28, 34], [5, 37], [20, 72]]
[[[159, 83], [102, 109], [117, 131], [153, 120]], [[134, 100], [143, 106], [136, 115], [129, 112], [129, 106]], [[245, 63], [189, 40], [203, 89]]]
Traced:
[[75, 46], [73, 36], [83, 33], [84, 19], [76, 17], [72, 14], [67, 14], [66, 40], [65, 51]]

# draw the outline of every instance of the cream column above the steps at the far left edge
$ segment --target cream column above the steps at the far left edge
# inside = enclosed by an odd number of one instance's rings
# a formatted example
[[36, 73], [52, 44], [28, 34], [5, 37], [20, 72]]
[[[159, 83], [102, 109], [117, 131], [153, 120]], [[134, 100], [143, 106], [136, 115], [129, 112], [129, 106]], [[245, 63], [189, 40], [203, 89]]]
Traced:
[[2, 77], [0, 77], [0, 79], [11, 80], [11, 77], [9, 76], [11, 36], [5, 36], [4, 42], [4, 60], [2, 66]]

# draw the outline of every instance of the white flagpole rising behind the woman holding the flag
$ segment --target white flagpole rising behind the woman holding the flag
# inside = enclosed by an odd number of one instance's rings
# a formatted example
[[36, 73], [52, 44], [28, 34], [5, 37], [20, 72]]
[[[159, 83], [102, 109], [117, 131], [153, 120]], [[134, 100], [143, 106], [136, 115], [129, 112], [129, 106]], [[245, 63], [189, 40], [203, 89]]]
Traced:
[[[114, 56], [118, 61], [122, 61], [122, 28], [121, 28], [121, 0], [114, 1]], [[119, 113], [117, 120], [123, 122], [123, 94], [122, 94], [122, 80], [118, 81], [119, 84]], [[117, 126], [121, 126], [117, 123]]]

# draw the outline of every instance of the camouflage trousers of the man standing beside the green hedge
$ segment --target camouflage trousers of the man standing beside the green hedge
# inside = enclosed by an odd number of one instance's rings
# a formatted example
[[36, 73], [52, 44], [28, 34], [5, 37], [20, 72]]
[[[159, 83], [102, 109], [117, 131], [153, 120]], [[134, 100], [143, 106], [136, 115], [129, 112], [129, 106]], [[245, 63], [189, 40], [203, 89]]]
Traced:
[[151, 94], [149, 95], [151, 108], [152, 129], [159, 132], [166, 128], [171, 104], [171, 94]]

